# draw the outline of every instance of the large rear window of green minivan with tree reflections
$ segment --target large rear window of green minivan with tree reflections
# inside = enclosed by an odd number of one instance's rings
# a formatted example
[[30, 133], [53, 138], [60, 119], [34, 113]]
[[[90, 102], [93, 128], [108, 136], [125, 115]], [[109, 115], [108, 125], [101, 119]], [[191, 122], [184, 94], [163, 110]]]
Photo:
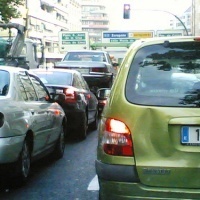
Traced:
[[200, 43], [165, 42], [138, 50], [126, 97], [140, 105], [200, 107]]

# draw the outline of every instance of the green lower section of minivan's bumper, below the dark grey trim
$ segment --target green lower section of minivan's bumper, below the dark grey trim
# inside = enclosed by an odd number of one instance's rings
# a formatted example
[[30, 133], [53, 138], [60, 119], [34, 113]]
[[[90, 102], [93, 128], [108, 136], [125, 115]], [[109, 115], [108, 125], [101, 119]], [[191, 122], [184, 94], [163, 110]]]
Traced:
[[199, 199], [200, 189], [156, 188], [141, 183], [117, 182], [99, 179], [101, 200], [191, 200]]

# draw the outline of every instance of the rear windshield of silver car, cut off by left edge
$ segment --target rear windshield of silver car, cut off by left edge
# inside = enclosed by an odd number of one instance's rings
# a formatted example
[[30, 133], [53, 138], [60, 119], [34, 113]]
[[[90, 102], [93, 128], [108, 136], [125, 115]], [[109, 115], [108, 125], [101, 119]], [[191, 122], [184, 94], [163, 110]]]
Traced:
[[10, 75], [7, 71], [0, 70], [0, 95], [5, 96], [8, 93], [10, 84]]

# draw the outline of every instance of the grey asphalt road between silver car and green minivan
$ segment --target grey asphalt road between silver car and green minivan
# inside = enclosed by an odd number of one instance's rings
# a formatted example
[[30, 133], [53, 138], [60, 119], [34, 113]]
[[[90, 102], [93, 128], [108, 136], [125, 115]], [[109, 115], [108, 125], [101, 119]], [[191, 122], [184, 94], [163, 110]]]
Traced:
[[25, 186], [1, 183], [1, 200], [97, 200], [98, 180], [95, 173], [97, 131], [89, 132], [84, 141], [66, 142], [64, 157], [46, 157], [32, 165]]

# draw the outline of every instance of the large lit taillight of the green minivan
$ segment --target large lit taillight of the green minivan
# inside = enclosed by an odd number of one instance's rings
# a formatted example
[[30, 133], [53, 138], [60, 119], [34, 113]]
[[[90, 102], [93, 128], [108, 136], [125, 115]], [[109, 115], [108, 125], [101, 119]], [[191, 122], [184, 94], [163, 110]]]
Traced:
[[107, 119], [102, 138], [105, 153], [115, 156], [133, 156], [133, 143], [128, 127], [121, 121]]

